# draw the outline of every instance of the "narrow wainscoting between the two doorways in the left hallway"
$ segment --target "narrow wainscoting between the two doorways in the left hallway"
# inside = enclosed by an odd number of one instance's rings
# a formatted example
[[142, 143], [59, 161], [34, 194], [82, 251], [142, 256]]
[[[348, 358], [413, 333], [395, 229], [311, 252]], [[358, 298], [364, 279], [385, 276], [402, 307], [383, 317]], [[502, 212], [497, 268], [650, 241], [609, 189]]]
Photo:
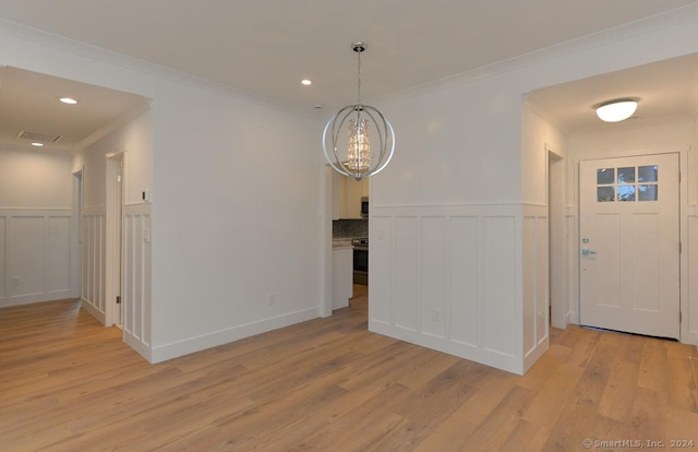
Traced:
[[83, 209], [83, 296], [82, 306], [105, 323], [105, 207]]

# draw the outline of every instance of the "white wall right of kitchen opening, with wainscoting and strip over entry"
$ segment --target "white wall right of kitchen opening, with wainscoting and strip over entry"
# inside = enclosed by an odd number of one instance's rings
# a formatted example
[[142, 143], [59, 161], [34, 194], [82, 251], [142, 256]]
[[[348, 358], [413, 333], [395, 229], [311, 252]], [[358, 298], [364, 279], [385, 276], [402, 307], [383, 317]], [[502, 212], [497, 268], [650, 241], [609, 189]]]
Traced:
[[[541, 233], [547, 162], [542, 141], [550, 136], [553, 150], [555, 141], [563, 141], [557, 132], [521, 135], [531, 124], [521, 109], [525, 95], [695, 51], [698, 8], [690, 8], [374, 103], [395, 127], [397, 151], [390, 166], [372, 180], [370, 328], [524, 372], [537, 357], [532, 350], [540, 349], [529, 345], [544, 332], [530, 319], [543, 306], [538, 287], [545, 285], [542, 275], [547, 265], [547, 259], [538, 260], [545, 254], [547, 234]], [[531, 148], [534, 154], [529, 153]], [[569, 217], [574, 192], [565, 198], [567, 226], [571, 227], [576, 222]], [[472, 223], [454, 242], [449, 228], [458, 215], [471, 217]], [[444, 231], [436, 228], [442, 238], [423, 236], [424, 230], [435, 230], [424, 229], [431, 216], [444, 218]], [[497, 219], [492, 229], [489, 218], [493, 217]], [[510, 226], [505, 227], [506, 222]], [[497, 230], [514, 253], [500, 252], [498, 243], [488, 239], [482, 227], [488, 233]], [[424, 272], [434, 259], [441, 260], [425, 252], [424, 243], [432, 240], [445, 243], [447, 250], [444, 278]], [[405, 252], [409, 259], [400, 260]], [[573, 255], [568, 252], [568, 265]], [[488, 269], [501, 271], [495, 276]], [[460, 277], [459, 290], [470, 298], [448, 295], [456, 276]], [[568, 289], [573, 293], [574, 284]], [[409, 304], [410, 312], [416, 310], [417, 318], [424, 319], [424, 312], [431, 313], [432, 306], [442, 300], [446, 306], [443, 323], [450, 324], [450, 331], [444, 328], [445, 333], [434, 337], [432, 330], [419, 323], [405, 323], [406, 308], [400, 304]], [[450, 318], [455, 314], [460, 318]], [[482, 331], [500, 335], [494, 340]], [[466, 336], [470, 337], [468, 348], [453, 344]]]

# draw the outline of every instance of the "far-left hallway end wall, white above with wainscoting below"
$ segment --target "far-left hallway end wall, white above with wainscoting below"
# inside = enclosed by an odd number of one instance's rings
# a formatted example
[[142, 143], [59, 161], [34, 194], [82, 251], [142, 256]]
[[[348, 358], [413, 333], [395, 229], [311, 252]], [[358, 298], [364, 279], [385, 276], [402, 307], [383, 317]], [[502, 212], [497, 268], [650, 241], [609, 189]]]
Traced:
[[0, 307], [70, 297], [71, 157], [0, 150]]

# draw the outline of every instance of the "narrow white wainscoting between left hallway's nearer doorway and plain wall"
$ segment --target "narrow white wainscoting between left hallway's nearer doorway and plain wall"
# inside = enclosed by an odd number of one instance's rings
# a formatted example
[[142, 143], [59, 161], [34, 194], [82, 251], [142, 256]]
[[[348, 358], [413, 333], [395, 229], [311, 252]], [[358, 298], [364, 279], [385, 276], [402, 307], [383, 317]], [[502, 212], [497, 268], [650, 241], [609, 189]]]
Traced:
[[124, 341], [151, 360], [151, 204], [124, 206], [123, 224]]

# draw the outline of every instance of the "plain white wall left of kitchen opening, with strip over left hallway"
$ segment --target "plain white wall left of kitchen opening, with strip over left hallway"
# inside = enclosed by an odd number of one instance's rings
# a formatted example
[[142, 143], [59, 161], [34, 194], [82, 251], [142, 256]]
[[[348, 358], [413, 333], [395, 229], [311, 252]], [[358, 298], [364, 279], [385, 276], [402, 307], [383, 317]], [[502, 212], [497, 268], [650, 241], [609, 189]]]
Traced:
[[[136, 349], [158, 361], [320, 314], [315, 119], [12, 23], [0, 27], [0, 64], [152, 102], [153, 272], [143, 306], [152, 318], [149, 330], [134, 325]], [[86, 188], [99, 180], [89, 158], [103, 157], [85, 154]], [[148, 182], [129, 185], [131, 202]], [[101, 192], [85, 190], [88, 213], [101, 209]]]

